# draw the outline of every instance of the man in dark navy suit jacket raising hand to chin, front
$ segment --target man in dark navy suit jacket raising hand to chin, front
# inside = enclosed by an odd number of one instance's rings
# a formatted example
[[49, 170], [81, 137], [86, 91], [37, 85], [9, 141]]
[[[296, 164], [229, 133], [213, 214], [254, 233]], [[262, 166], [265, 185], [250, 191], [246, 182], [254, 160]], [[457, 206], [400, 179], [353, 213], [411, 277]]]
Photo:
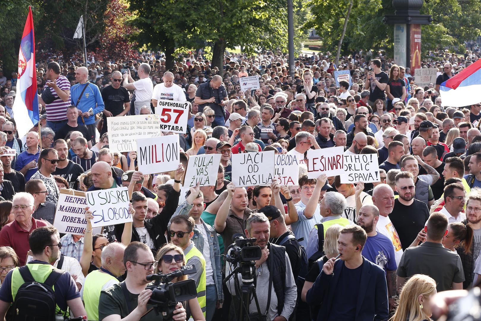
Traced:
[[341, 259], [332, 257], [324, 264], [306, 295], [308, 304], [320, 304], [317, 321], [388, 318], [386, 277], [384, 270], [361, 255], [366, 240], [360, 226], [348, 225], [341, 231]]

